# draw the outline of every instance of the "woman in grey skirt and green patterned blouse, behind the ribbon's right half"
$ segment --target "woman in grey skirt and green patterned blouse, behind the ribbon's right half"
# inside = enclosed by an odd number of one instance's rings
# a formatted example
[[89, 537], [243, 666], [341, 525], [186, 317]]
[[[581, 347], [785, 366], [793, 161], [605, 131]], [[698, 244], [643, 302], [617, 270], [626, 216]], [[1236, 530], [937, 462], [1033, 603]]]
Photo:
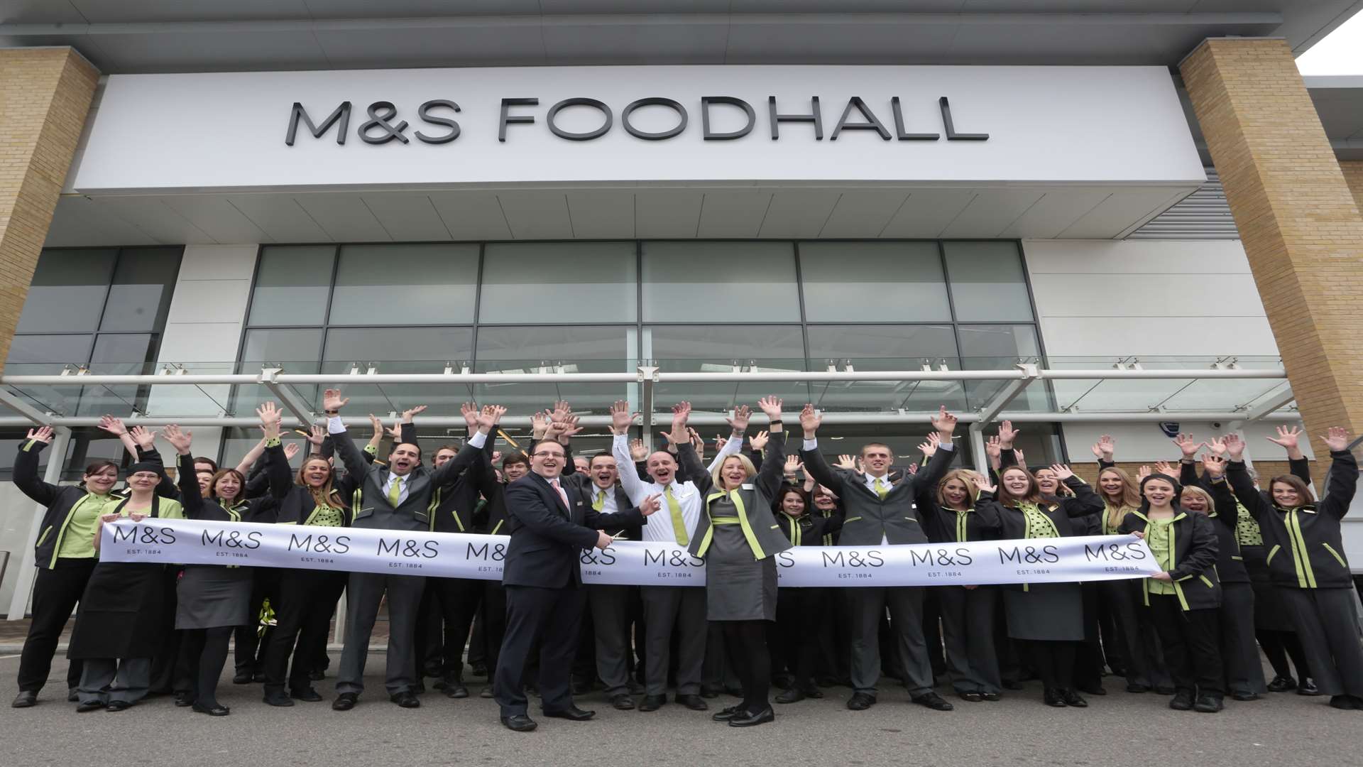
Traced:
[[[1005, 452], [1007, 453], [1007, 450]], [[1050, 467], [1073, 498], [1043, 495], [1036, 478], [1022, 467], [1007, 467], [999, 476], [998, 508], [1000, 538], [1067, 538], [1074, 535], [1071, 517], [1103, 510], [1093, 489], [1066, 465]], [[994, 491], [994, 487], [981, 487]], [[977, 505], [979, 506], [979, 505]], [[1084, 595], [1077, 583], [1010, 585], [1003, 590], [1007, 635], [1028, 655], [1041, 677], [1047, 706], [1085, 707], [1074, 691], [1074, 656], [1084, 641]]]

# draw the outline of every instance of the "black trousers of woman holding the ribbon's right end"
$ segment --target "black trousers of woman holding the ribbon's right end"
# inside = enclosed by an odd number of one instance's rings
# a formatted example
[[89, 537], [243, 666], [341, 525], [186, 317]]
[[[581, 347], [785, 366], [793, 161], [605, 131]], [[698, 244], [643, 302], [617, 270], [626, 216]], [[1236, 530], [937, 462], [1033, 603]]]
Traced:
[[1175, 595], [1152, 594], [1150, 618], [1160, 632], [1174, 688], [1190, 696], [1225, 696], [1221, 618], [1216, 607], [1184, 610]]

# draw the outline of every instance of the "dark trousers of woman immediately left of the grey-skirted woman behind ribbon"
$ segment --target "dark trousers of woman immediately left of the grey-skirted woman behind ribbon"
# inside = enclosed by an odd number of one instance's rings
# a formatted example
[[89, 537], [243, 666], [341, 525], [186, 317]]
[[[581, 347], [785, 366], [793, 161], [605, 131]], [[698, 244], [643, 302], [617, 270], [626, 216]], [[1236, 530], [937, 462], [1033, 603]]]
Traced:
[[992, 585], [943, 585], [935, 591], [942, 609], [942, 635], [951, 686], [957, 692], [1000, 692], [999, 656], [994, 648], [998, 590]]

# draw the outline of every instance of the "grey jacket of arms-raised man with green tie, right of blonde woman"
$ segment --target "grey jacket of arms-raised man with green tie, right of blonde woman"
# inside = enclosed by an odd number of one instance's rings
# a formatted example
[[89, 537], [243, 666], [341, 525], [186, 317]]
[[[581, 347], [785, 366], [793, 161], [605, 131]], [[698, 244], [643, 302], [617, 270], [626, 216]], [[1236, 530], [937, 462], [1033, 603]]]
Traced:
[[[767, 442], [769, 450], [770, 445], [771, 442]], [[913, 509], [913, 498], [917, 487], [935, 489], [946, 476], [954, 457], [955, 450], [938, 450], [917, 474], [890, 472], [886, 475], [890, 480], [890, 493], [880, 498], [855, 471], [830, 468], [818, 448], [800, 450], [804, 471], [842, 500], [846, 519], [842, 520], [838, 546], [879, 546], [882, 540], [928, 543], [923, 523]]]

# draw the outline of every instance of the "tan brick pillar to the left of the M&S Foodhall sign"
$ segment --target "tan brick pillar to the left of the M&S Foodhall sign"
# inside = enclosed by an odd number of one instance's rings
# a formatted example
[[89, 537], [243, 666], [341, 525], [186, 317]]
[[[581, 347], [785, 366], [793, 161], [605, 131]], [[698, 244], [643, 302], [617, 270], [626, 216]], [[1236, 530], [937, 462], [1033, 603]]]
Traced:
[[71, 48], [0, 49], [0, 371], [98, 78]]

